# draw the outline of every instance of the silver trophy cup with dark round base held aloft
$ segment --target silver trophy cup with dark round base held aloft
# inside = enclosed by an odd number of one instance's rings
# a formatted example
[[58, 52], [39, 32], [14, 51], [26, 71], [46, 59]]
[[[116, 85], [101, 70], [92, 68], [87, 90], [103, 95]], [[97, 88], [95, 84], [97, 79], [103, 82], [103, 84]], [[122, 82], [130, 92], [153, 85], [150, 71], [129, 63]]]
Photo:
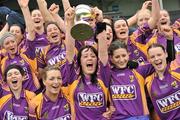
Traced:
[[91, 18], [91, 8], [88, 5], [80, 4], [76, 6], [75, 25], [71, 29], [71, 35], [74, 39], [83, 41], [93, 36], [93, 28], [87, 22]]

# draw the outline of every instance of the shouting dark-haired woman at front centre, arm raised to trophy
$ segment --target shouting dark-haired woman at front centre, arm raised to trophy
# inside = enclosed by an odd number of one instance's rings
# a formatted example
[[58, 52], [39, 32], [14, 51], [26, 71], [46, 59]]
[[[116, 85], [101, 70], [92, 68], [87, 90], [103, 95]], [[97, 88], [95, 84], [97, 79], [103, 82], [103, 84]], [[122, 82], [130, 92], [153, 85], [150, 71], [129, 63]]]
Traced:
[[[108, 86], [97, 73], [98, 55], [94, 47], [83, 46], [78, 55], [75, 55], [75, 40], [70, 34], [74, 25], [74, 15], [73, 8], [65, 12], [67, 61], [62, 69], [69, 89], [72, 119], [104, 120], [108, 117]], [[76, 68], [79, 68], [78, 71]]]

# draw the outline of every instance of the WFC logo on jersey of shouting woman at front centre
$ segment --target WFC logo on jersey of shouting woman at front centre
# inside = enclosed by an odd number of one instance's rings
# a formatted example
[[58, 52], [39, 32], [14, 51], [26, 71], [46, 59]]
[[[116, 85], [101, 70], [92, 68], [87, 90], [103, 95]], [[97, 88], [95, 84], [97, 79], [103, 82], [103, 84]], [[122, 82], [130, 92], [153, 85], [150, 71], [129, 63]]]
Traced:
[[77, 94], [80, 107], [99, 108], [104, 106], [104, 95], [99, 93], [82, 93]]

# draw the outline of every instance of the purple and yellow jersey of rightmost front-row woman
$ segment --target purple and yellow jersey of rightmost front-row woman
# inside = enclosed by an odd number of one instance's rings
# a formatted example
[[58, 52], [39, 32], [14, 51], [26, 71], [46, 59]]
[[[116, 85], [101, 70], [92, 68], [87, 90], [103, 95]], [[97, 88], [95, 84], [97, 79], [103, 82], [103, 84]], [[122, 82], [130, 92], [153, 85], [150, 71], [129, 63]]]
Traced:
[[180, 69], [167, 66], [164, 78], [157, 73], [146, 78], [147, 90], [162, 120], [180, 120]]

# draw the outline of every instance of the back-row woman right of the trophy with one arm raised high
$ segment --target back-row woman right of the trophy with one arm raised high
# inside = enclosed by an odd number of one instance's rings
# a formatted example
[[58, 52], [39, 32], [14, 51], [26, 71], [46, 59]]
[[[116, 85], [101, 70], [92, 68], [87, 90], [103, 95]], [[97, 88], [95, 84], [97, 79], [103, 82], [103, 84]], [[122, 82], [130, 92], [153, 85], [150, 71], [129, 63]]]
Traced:
[[[128, 22], [124, 19], [119, 19], [114, 23], [116, 37], [124, 41], [128, 45], [130, 59], [137, 61], [139, 64], [144, 64], [147, 61], [147, 46], [144, 45], [145, 38], [152, 34], [152, 30], [156, 27], [159, 16], [159, 3], [157, 0], [152, 0], [152, 16], [142, 26], [129, 36]], [[140, 13], [139, 13], [140, 14]]]

